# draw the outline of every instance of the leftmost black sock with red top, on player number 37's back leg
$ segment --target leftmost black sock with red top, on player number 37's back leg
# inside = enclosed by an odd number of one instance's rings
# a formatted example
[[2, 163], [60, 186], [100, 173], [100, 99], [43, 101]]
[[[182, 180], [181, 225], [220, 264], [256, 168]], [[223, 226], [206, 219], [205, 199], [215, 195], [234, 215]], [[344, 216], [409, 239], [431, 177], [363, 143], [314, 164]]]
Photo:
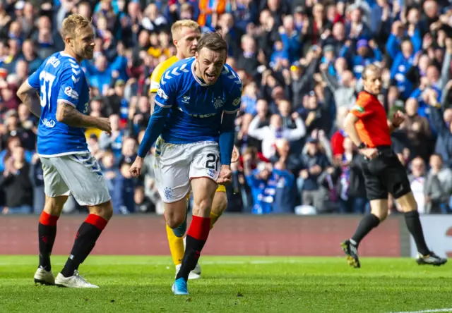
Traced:
[[57, 236], [57, 221], [59, 216], [47, 214], [42, 211], [40, 223], [37, 225], [38, 240], [40, 246], [40, 267], [46, 271], [50, 271], [50, 254]]

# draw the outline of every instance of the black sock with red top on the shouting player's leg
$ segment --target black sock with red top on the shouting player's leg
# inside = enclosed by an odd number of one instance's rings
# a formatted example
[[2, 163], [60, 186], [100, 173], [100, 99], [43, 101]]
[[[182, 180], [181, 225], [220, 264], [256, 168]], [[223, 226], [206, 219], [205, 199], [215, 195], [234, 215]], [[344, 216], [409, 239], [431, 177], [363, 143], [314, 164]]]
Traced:
[[193, 216], [189, 231], [186, 234], [186, 246], [184, 259], [182, 259], [181, 269], [177, 273], [176, 279], [184, 278], [185, 281], [189, 278], [190, 271], [192, 271], [198, 259], [201, 256], [206, 240], [210, 232], [210, 217]]

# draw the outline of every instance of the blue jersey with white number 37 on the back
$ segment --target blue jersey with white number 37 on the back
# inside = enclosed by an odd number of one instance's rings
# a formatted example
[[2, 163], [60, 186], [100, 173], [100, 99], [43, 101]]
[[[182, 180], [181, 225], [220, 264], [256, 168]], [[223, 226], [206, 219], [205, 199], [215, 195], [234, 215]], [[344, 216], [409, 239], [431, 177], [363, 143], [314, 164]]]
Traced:
[[37, 153], [41, 156], [61, 156], [88, 152], [85, 129], [57, 121], [58, 102], [88, 112], [90, 90], [85, 73], [72, 56], [57, 52], [28, 78], [28, 84], [40, 90], [41, 118], [37, 128]]

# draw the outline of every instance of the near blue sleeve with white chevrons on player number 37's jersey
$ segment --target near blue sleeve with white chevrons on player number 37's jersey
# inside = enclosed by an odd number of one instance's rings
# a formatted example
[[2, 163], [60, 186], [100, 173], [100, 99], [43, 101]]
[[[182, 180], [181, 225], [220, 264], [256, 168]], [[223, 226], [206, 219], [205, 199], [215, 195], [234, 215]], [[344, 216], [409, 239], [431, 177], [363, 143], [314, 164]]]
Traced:
[[60, 87], [57, 102], [77, 107], [84, 79], [85, 75], [80, 66], [71, 64], [70, 67], [64, 68], [59, 75]]

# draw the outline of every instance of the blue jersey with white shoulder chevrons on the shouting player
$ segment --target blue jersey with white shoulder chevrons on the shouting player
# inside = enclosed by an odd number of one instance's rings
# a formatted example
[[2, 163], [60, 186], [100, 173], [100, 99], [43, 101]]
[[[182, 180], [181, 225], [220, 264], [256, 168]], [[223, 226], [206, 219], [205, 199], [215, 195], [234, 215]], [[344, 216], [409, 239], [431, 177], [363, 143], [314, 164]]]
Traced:
[[155, 105], [170, 108], [162, 131], [169, 143], [218, 142], [222, 112], [239, 111], [242, 80], [228, 65], [213, 85], [195, 74], [195, 58], [177, 61], [160, 80]]

